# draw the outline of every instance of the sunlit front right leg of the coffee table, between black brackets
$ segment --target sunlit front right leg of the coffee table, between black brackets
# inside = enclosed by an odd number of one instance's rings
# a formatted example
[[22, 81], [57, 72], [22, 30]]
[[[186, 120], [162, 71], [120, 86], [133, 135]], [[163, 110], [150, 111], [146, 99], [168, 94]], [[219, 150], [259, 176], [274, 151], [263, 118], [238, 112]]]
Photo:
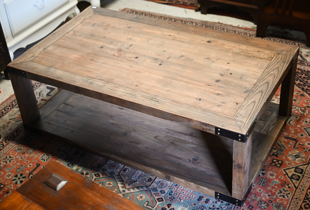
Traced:
[[246, 143], [233, 142], [232, 155], [232, 197], [243, 199], [250, 187], [250, 164], [253, 133]]

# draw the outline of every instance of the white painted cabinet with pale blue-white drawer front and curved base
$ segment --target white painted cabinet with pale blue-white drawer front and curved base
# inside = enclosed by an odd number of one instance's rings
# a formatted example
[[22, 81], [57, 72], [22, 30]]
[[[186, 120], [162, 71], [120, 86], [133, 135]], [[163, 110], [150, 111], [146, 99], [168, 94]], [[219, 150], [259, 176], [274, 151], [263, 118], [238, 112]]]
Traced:
[[78, 0], [0, 0], [0, 22], [10, 57], [54, 30], [70, 15], [80, 13]]

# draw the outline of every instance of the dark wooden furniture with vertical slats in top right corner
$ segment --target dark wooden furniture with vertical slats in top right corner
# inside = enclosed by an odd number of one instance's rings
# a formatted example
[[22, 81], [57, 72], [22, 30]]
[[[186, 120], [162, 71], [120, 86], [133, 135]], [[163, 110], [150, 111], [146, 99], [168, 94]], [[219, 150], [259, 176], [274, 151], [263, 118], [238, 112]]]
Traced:
[[310, 1], [259, 1], [256, 36], [264, 37], [269, 25], [280, 25], [303, 31], [310, 45]]

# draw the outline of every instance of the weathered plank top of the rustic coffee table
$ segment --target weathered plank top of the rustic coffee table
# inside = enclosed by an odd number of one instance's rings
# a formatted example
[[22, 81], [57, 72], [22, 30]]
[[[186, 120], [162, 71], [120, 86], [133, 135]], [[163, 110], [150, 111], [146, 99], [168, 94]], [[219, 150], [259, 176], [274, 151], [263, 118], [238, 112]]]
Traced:
[[245, 134], [298, 49], [88, 7], [8, 66], [200, 130]]

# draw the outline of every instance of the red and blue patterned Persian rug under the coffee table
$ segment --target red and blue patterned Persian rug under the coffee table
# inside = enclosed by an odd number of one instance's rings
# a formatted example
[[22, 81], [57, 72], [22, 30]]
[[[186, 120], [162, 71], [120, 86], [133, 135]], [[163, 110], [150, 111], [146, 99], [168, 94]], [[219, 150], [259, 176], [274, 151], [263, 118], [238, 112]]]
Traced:
[[[249, 30], [220, 23], [180, 19], [126, 9], [141, 16], [255, 37]], [[261, 38], [258, 38], [261, 39]], [[0, 200], [10, 196], [51, 160], [60, 162], [145, 209], [309, 209], [310, 208], [310, 48], [305, 42], [265, 37], [301, 48], [292, 114], [242, 207], [113, 162], [55, 137], [24, 130], [15, 96], [0, 104]], [[33, 81], [38, 105], [61, 91]], [[272, 99], [279, 103], [278, 90]]]

